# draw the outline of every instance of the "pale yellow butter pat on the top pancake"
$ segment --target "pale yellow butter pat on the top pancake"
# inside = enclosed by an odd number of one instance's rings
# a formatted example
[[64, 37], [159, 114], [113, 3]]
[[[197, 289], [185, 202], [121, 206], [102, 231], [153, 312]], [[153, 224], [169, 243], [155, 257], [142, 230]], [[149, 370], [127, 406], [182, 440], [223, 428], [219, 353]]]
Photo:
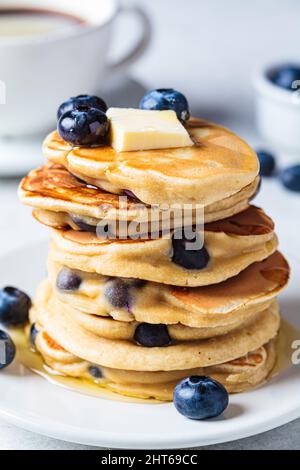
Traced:
[[174, 111], [110, 108], [110, 143], [117, 152], [191, 147], [193, 141]]

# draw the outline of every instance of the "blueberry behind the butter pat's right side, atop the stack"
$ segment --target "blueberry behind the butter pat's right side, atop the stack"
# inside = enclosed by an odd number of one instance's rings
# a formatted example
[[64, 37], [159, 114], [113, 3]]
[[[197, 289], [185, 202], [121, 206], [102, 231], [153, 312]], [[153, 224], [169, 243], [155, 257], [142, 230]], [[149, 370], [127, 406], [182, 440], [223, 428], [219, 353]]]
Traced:
[[175, 111], [180, 121], [190, 118], [189, 104], [186, 97], [173, 88], [159, 88], [149, 91], [140, 102], [141, 109]]

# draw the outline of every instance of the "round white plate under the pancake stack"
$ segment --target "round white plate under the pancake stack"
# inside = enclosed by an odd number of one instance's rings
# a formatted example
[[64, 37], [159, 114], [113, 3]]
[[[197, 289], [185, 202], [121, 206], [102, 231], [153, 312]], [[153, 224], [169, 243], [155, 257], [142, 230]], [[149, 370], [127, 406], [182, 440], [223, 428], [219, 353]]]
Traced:
[[[40, 243], [2, 257], [0, 286], [12, 284], [33, 293], [45, 276], [46, 254], [46, 243]], [[294, 264], [281, 305], [285, 317], [300, 329], [299, 268]], [[205, 422], [185, 419], [172, 404], [81, 395], [50, 384], [18, 363], [0, 373], [0, 389], [0, 414], [7, 421], [54, 438], [111, 448], [170, 449], [226, 442], [300, 416], [300, 366], [259, 390], [232, 396], [223, 417]]]

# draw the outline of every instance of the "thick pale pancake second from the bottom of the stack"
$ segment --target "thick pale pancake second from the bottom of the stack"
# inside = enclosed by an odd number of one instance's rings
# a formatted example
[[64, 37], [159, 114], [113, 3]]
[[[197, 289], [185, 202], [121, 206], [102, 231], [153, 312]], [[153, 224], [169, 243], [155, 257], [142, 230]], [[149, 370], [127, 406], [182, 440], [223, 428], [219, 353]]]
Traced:
[[133, 371], [174, 371], [222, 364], [247, 355], [275, 338], [280, 326], [277, 303], [255, 321], [217, 338], [177, 341], [147, 348], [132, 341], [99, 337], [79, 325], [66, 309], [56, 309], [47, 284], [39, 289], [31, 321], [43, 325], [60, 346], [92, 364]]

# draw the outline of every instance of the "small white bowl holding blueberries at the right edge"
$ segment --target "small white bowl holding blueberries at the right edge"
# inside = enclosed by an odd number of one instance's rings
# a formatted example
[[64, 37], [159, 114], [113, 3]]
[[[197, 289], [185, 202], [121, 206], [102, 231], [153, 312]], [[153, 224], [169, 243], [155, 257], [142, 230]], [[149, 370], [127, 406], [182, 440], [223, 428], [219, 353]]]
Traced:
[[[282, 65], [282, 64], [281, 64]], [[273, 146], [300, 150], [300, 83], [289, 91], [270, 80], [280, 64], [264, 67], [254, 76], [256, 122], [261, 136]]]

